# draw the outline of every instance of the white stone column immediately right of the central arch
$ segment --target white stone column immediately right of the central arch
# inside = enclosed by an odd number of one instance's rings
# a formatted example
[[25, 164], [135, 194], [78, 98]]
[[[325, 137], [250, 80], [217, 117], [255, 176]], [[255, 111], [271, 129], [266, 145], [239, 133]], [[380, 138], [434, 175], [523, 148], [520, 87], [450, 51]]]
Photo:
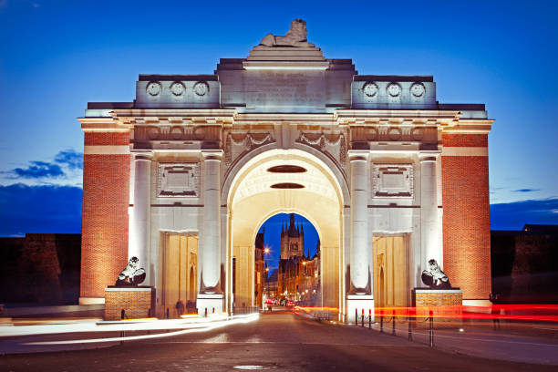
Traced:
[[346, 296], [346, 319], [355, 321], [355, 313], [374, 316], [374, 296], [369, 279], [368, 246], [368, 151], [350, 150], [351, 217], [350, 217], [350, 290]]

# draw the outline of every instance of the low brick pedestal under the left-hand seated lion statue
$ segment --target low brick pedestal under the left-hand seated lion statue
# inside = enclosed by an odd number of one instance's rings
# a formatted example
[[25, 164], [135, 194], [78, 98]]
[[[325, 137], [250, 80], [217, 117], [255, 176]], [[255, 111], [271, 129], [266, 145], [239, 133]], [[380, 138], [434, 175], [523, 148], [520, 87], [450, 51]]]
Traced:
[[105, 288], [105, 320], [119, 320], [122, 310], [126, 319], [155, 316], [155, 288], [116, 285]]

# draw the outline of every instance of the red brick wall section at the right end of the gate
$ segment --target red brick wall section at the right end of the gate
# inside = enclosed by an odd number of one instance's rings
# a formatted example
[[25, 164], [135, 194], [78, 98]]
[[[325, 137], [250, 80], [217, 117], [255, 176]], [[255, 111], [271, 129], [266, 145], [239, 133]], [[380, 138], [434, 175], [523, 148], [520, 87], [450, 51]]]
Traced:
[[[486, 147], [486, 134], [443, 134], [444, 147]], [[491, 293], [487, 156], [442, 156], [444, 272], [463, 298]]]

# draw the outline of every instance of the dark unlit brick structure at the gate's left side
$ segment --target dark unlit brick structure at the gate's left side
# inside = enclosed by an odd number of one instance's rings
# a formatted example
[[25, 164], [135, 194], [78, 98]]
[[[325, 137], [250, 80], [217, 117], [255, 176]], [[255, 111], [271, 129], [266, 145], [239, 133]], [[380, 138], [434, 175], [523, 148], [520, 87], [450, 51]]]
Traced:
[[0, 303], [78, 302], [81, 234], [27, 233], [23, 238], [0, 238], [0, 263]]

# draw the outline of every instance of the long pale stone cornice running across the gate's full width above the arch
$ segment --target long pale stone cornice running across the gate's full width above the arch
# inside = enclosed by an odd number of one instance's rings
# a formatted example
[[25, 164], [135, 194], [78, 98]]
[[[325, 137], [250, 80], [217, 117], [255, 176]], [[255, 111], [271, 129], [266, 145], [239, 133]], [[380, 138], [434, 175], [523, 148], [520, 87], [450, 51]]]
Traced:
[[136, 125], [420, 126], [488, 133], [492, 119], [461, 119], [457, 110], [336, 109], [333, 113], [238, 113], [236, 109], [113, 109], [110, 118], [79, 118], [84, 131], [129, 131]]

